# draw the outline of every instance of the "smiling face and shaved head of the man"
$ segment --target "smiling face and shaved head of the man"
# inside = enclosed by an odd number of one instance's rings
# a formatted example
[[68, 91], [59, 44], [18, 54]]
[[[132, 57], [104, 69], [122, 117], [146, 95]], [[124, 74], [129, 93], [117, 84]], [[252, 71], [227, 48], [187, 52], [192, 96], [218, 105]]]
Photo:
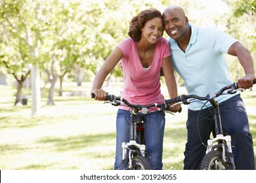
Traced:
[[167, 9], [163, 12], [163, 26], [169, 37], [182, 39], [188, 26], [188, 18], [179, 9]]

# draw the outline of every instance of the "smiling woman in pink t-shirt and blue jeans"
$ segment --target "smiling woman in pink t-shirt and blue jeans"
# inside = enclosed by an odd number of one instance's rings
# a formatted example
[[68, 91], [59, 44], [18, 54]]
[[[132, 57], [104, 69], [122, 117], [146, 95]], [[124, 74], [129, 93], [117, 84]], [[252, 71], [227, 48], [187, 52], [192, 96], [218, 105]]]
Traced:
[[[169, 43], [163, 39], [163, 20], [161, 12], [150, 8], [135, 16], [130, 23], [130, 38], [117, 44], [116, 48], [106, 59], [95, 76], [91, 93], [95, 93], [95, 100], [102, 101], [106, 92], [101, 89], [108, 74], [121, 60], [123, 69], [123, 91], [121, 96], [129, 103], [149, 105], [163, 103], [164, 97], [160, 91], [160, 70], [163, 68], [169, 97], [177, 96], [177, 84], [173, 75], [171, 51]], [[170, 107], [177, 112], [179, 106]], [[120, 106], [116, 120], [116, 162], [114, 169], [121, 169], [121, 142], [129, 142], [129, 124], [127, 114], [129, 107]], [[125, 117], [126, 116], [126, 117]], [[129, 119], [128, 119], [129, 120]], [[162, 169], [163, 131], [165, 127], [164, 112], [150, 112], [143, 116], [146, 151], [152, 169]]]

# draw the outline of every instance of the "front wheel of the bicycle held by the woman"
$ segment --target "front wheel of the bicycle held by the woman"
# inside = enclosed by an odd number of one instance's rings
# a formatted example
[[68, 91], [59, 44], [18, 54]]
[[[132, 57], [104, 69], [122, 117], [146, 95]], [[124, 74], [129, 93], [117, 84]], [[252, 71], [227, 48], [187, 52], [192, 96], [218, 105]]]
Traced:
[[133, 162], [133, 166], [132, 169], [133, 170], [151, 170], [152, 167], [148, 161], [148, 159], [146, 159], [144, 156], [135, 156], [132, 158], [132, 162]]

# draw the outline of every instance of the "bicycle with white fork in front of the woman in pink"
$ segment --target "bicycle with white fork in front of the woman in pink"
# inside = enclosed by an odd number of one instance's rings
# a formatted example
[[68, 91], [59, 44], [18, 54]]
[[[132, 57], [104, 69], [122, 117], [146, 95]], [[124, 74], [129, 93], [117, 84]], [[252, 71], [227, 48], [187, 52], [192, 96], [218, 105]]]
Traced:
[[[92, 93], [92, 98], [95, 95]], [[169, 105], [166, 103], [152, 103], [150, 105], [132, 105], [126, 99], [117, 97], [115, 95], [106, 95], [106, 101], [109, 101], [114, 106], [127, 105], [131, 107], [131, 120], [130, 120], [130, 140], [129, 142], [122, 142], [122, 161], [121, 169], [126, 170], [150, 170], [152, 169], [150, 162], [146, 158], [146, 142], [144, 139], [144, 126], [138, 116], [139, 111], [142, 115], [148, 112], [163, 111], [169, 112]], [[150, 110], [151, 109], [151, 110]], [[179, 111], [181, 112], [181, 110]], [[171, 113], [171, 112], [169, 112]], [[173, 114], [173, 113], [171, 113]], [[127, 156], [128, 155], [128, 156]]]

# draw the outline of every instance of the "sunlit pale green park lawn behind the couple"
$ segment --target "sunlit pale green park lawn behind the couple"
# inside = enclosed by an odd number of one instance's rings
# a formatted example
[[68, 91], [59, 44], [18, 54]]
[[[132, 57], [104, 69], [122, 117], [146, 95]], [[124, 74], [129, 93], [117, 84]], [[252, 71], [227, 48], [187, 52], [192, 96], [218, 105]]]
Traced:
[[[113, 169], [117, 107], [89, 97], [54, 97], [56, 105], [43, 105], [41, 116], [31, 116], [30, 100], [14, 107], [14, 99], [8, 97], [13, 89], [0, 89], [5, 91], [0, 100], [0, 169]], [[256, 93], [242, 95], [256, 152]], [[186, 143], [186, 107], [166, 118], [163, 169], [179, 170]]]

